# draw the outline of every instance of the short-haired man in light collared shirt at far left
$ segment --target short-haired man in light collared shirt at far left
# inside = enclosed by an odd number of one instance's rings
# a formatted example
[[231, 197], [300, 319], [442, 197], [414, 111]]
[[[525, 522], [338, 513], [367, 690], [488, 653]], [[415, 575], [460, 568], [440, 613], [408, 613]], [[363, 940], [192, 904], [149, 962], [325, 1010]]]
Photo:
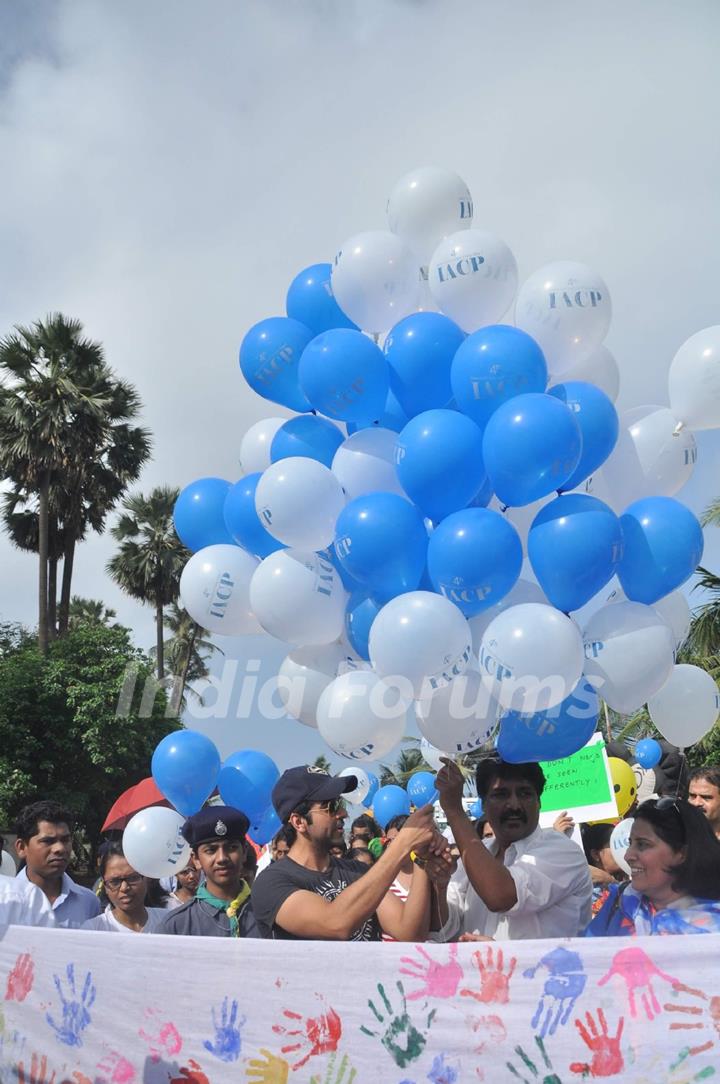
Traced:
[[35, 885], [40, 890], [55, 926], [77, 928], [102, 908], [94, 892], [65, 873], [73, 853], [72, 822], [73, 816], [57, 802], [26, 805], [15, 825], [15, 850], [25, 862], [17, 874], [21, 886]]

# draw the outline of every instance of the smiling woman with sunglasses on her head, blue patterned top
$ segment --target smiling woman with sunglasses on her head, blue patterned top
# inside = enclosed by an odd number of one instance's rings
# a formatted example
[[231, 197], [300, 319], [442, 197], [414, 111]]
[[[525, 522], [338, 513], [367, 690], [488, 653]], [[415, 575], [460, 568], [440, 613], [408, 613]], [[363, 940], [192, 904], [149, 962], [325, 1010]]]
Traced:
[[586, 937], [720, 932], [720, 840], [699, 810], [643, 802], [625, 859], [631, 879], [609, 886]]

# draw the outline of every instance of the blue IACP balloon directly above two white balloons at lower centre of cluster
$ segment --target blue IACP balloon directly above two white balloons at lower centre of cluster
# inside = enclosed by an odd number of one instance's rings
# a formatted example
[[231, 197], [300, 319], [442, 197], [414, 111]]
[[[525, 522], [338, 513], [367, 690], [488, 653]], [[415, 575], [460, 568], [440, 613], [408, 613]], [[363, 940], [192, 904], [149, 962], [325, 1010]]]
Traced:
[[443, 519], [430, 534], [427, 568], [433, 586], [465, 617], [500, 602], [523, 567], [523, 543], [499, 512], [464, 508]]

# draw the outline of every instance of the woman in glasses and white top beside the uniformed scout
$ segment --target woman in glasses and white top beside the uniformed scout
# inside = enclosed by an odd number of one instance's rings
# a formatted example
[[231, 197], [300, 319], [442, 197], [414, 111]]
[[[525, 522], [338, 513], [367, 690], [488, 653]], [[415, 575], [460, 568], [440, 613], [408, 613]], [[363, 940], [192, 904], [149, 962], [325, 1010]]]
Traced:
[[[119, 843], [111, 843], [100, 863], [100, 876], [107, 906], [102, 915], [82, 924], [83, 930], [103, 930], [106, 933], [152, 933], [167, 915], [160, 905], [160, 891], [156, 881], [133, 869]], [[146, 898], [157, 906], [145, 906]], [[102, 895], [101, 895], [102, 899]]]

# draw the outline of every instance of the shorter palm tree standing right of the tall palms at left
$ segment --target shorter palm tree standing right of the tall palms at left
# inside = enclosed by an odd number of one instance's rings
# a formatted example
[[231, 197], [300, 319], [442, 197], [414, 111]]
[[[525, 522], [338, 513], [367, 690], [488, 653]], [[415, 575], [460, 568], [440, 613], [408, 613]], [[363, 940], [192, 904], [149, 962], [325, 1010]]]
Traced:
[[165, 678], [165, 607], [178, 598], [180, 573], [190, 559], [172, 524], [178, 495], [179, 490], [160, 486], [149, 496], [128, 496], [123, 502], [125, 513], [111, 529], [120, 546], [106, 566], [123, 591], [155, 607], [158, 681]]

